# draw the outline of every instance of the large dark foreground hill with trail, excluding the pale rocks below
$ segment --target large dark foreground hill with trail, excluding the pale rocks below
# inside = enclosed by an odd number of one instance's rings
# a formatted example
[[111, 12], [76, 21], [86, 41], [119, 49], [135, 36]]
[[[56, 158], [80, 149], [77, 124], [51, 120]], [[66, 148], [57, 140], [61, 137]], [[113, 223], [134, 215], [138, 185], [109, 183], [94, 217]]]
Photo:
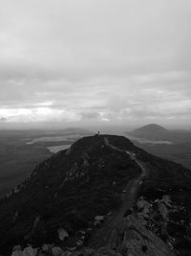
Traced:
[[[77, 232], [92, 228], [96, 216], [115, 212], [117, 224], [128, 209], [126, 198], [133, 203], [137, 192], [152, 200], [177, 191], [178, 203], [191, 196], [190, 184], [189, 170], [138, 149], [125, 137], [84, 137], [38, 165], [30, 178], [1, 200], [0, 249], [60, 244], [60, 227], [70, 235], [65, 245], [74, 246]], [[184, 207], [190, 209], [188, 203]], [[187, 214], [186, 223], [189, 218]]]

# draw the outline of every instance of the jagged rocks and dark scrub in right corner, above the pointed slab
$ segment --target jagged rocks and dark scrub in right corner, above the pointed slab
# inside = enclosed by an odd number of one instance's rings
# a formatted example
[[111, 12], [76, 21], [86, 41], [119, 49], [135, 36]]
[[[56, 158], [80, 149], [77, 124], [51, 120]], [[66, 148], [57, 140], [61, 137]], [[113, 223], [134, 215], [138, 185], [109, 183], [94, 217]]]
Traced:
[[176, 193], [182, 194], [183, 191], [170, 193], [171, 195], [163, 195], [156, 199], [138, 198], [134, 213], [138, 221], [157, 235], [176, 255], [191, 255], [188, 208], [186, 209], [183, 202], [177, 201], [175, 197]]

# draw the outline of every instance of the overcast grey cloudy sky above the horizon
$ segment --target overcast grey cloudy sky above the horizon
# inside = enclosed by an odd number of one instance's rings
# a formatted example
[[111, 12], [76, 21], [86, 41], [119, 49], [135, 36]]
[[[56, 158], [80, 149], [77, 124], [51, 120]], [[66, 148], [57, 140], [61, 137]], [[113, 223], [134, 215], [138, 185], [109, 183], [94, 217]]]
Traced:
[[190, 0], [0, 4], [0, 128], [191, 128]]

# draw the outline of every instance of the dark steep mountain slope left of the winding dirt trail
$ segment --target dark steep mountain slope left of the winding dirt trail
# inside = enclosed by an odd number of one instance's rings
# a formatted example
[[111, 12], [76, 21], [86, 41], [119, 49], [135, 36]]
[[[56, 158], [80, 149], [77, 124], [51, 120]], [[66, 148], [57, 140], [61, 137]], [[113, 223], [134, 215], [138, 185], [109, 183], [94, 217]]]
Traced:
[[[123, 137], [110, 139], [134, 149]], [[138, 165], [125, 152], [106, 146], [104, 137], [78, 140], [70, 150], [60, 151], [37, 166], [29, 179], [1, 201], [0, 227], [5, 232], [0, 235], [0, 244], [52, 242], [60, 226], [73, 236], [96, 215], [117, 207], [123, 188], [139, 173]]]

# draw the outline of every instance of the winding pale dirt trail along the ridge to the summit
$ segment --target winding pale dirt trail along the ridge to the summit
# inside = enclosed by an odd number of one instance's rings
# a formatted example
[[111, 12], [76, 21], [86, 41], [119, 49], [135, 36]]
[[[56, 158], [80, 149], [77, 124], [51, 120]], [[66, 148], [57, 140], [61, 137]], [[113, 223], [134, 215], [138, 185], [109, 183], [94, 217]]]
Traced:
[[[107, 138], [104, 138], [104, 143], [107, 147], [110, 147], [116, 151], [122, 151], [117, 149], [115, 146], [111, 145]], [[138, 197], [138, 191], [143, 183], [143, 179], [146, 176], [146, 168], [143, 163], [137, 159], [137, 156], [132, 151], [122, 151], [128, 154], [128, 157], [134, 160], [141, 170], [141, 174], [137, 178], [131, 179], [122, 195], [122, 204], [111, 216], [108, 216], [106, 221], [96, 230], [89, 241], [89, 246], [93, 248], [99, 248], [101, 246], [109, 245], [115, 246], [117, 238], [117, 227], [125, 217], [126, 213], [133, 206]]]

